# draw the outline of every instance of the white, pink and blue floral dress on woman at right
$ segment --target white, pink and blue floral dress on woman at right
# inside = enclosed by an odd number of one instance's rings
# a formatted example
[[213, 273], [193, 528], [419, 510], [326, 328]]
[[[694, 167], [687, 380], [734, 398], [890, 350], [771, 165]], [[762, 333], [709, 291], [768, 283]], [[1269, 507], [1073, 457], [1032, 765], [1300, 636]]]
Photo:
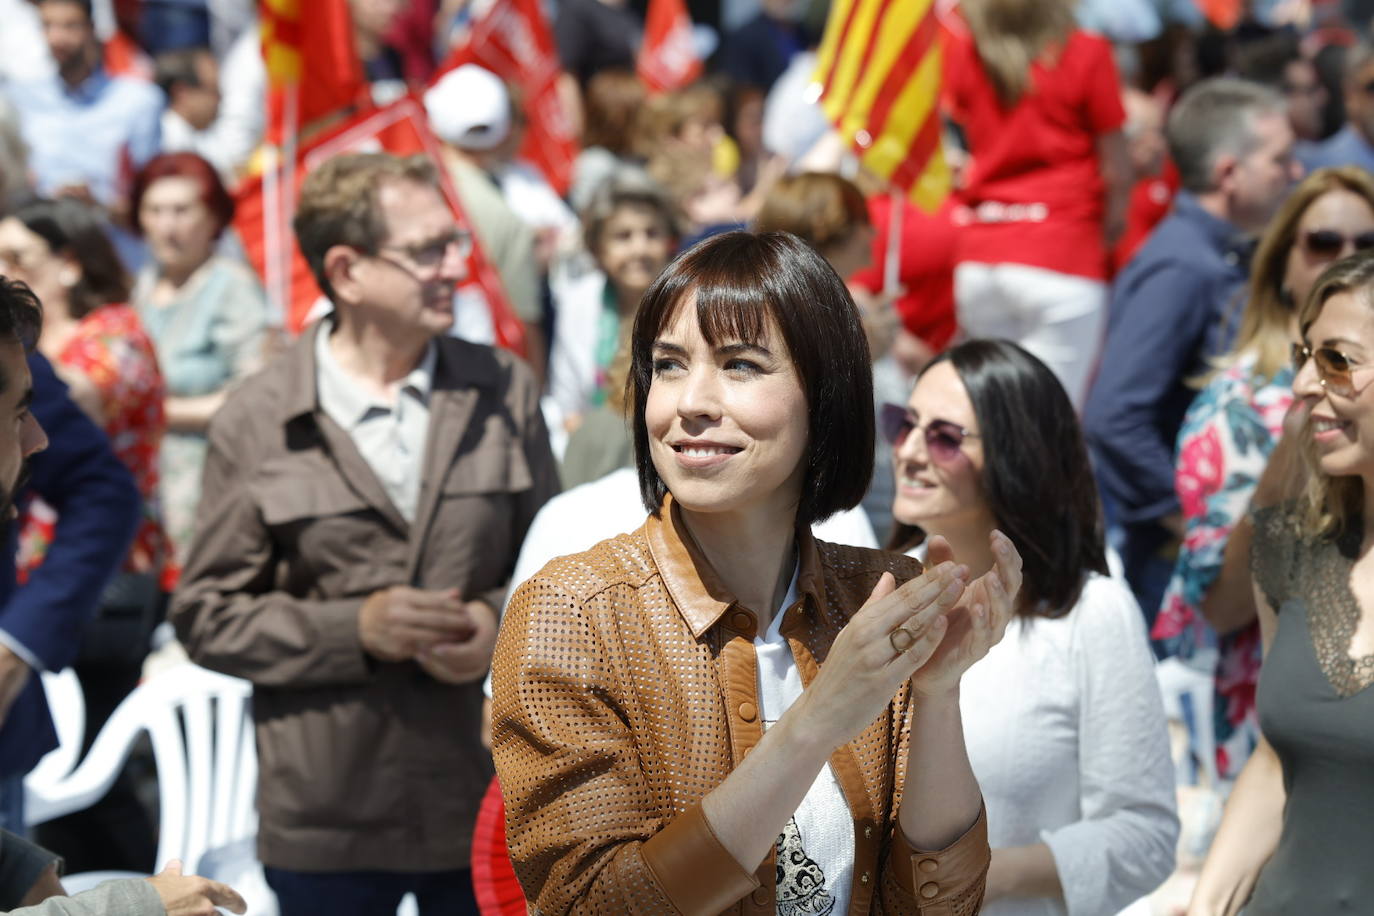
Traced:
[[1175, 489], [1183, 508], [1184, 537], [1173, 577], [1151, 636], [1167, 656], [1183, 659], [1216, 647], [1216, 766], [1235, 779], [1259, 740], [1254, 687], [1260, 677], [1260, 628], [1250, 623], [1219, 637], [1202, 617], [1202, 597], [1221, 571], [1231, 529], [1250, 505], [1283, 415], [1293, 402], [1293, 371], [1272, 379], [1254, 372], [1245, 357], [1198, 393], [1179, 430]]

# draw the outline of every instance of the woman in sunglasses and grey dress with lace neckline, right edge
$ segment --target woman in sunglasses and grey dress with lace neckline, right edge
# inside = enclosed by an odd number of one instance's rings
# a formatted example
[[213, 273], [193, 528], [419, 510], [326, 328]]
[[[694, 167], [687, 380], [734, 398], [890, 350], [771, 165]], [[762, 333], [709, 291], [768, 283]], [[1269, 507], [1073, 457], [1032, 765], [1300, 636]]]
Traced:
[[[1374, 900], [1374, 254], [1331, 265], [1298, 321], [1296, 402], [1252, 512], [1263, 736], [1191, 916]], [[1276, 483], [1289, 452], [1300, 472]]]

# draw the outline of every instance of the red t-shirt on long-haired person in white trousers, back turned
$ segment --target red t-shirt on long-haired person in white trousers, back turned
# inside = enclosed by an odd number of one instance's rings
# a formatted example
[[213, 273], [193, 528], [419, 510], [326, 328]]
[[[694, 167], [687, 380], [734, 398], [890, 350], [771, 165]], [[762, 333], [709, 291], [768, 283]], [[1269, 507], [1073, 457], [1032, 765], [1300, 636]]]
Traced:
[[1030, 66], [1010, 108], [966, 32], [947, 34], [944, 60], [945, 104], [971, 152], [955, 211], [959, 260], [1106, 279], [1096, 140], [1125, 121], [1112, 45], [1074, 30], [1052, 66]]

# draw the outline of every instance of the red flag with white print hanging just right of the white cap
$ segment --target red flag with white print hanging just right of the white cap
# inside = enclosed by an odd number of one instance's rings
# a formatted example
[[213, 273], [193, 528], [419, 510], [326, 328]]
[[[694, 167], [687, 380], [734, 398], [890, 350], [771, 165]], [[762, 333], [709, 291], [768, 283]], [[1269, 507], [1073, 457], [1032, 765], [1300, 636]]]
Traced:
[[558, 93], [561, 66], [554, 33], [539, 0], [497, 0], [478, 15], [463, 44], [455, 45], [434, 73], [475, 63], [518, 89], [525, 100], [528, 128], [522, 159], [533, 162], [559, 194], [573, 180], [577, 139]]

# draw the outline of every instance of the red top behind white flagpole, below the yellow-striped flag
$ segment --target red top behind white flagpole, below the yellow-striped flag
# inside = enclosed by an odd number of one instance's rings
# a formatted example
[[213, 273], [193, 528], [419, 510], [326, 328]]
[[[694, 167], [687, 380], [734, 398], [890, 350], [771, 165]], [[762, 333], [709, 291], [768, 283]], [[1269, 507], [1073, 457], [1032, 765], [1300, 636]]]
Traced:
[[[901, 211], [901, 242], [897, 247], [897, 282], [905, 288], [894, 306], [901, 324], [925, 341], [936, 353], [954, 338], [954, 254], [955, 228], [949, 221], [954, 202], [936, 213], [926, 213], [910, 201]], [[882, 290], [882, 265], [888, 257], [888, 232], [892, 228], [892, 196], [868, 198], [872, 221], [872, 264], [849, 280], [870, 293]]]

